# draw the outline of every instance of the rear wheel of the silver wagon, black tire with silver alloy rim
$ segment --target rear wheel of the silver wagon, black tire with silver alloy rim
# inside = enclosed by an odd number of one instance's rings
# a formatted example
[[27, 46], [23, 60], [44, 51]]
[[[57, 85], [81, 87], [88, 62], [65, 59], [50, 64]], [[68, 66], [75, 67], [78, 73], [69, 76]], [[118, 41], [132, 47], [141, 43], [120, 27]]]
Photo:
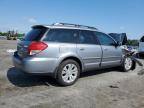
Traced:
[[[73, 73], [72, 73], [73, 70]], [[63, 61], [57, 72], [57, 81], [62, 86], [70, 86], [74, 84], [80, 75], [80, 66], [74, 60]]]

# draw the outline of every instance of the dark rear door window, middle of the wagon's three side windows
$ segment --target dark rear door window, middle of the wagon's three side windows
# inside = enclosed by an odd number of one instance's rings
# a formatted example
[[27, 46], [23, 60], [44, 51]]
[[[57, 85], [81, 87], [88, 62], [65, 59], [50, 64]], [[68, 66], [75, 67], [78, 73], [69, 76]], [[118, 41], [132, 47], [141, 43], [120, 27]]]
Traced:
[[80, 31], [79, 43], [81, 44], [98, 44], [96, 36], [93, 31]]

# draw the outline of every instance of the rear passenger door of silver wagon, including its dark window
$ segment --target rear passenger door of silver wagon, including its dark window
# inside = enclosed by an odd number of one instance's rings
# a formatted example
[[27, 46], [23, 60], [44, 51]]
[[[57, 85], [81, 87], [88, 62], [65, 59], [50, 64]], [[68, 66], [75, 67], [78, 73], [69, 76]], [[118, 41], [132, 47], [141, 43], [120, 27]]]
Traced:
[[79, 32], [77, 53], [82, 59], [86, 70], [100, 67], [102, 50], [93, 31], [81, 30]]

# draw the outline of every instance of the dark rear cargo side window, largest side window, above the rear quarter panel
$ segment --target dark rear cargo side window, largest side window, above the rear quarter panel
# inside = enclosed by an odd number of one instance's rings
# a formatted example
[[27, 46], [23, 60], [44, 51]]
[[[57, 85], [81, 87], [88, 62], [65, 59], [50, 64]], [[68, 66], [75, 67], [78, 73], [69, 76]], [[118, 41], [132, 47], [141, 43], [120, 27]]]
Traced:
[[62, 42], [62, 43], [76, 43], [77, 30], [71, 29], [51, 29], [44, 41]]

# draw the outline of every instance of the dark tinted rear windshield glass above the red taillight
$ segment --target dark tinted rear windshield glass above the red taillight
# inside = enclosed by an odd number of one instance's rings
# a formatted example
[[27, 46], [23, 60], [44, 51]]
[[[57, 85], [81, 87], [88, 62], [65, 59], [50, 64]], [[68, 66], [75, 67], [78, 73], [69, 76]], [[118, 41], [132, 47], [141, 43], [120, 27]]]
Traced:
[[34, 27], [30, 30], [25, 36], [25, 41], [39, 41], [44, 33], [46, 32], [47, 28], [45, 27]]

